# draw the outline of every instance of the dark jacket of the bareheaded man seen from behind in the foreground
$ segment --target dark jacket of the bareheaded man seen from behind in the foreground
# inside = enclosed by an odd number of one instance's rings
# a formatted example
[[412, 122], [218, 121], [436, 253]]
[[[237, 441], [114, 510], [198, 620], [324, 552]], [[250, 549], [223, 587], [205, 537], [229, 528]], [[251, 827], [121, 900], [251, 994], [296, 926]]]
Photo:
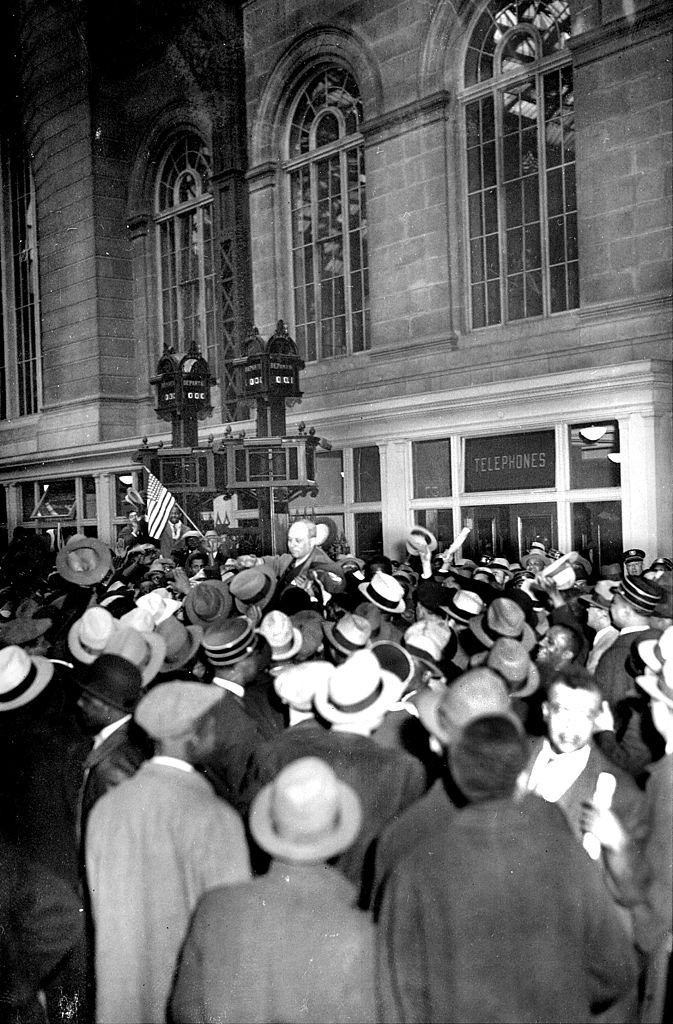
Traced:
[[575, 1021], [635, 980], [631, 942], [562, 813], [539, 797], [428, 817], [385, 884], [386, 1022]]

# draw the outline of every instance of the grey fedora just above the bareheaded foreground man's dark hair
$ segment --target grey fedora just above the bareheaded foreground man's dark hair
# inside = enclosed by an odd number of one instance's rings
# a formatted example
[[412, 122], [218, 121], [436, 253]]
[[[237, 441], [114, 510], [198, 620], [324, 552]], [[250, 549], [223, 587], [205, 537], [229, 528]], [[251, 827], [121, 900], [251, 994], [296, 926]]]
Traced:
[[445, 746], [475, 718], [512, 714], [504, 679], [486, 668], [469, 669], [444, 690], [423, 690], [416, 707], [421, 723]]

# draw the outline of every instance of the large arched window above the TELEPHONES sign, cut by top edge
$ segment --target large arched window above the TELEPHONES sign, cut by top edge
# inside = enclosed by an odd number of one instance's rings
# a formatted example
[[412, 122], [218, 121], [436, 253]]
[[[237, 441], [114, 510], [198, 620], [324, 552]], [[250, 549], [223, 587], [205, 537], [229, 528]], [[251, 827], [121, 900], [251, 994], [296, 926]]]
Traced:
[[491, 0], [464, 68], [472, 327], [579, 305], [566, 0]]

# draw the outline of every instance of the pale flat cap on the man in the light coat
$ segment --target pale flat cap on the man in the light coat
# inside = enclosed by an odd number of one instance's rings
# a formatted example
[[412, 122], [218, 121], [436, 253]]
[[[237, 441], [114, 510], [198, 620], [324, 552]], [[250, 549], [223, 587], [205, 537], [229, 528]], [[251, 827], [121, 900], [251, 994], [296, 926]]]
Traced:
[[145, 693], [133, 717], [153, 739], [170, 739], [191, 732], [223, 696], [218, 686], [174, 680]]

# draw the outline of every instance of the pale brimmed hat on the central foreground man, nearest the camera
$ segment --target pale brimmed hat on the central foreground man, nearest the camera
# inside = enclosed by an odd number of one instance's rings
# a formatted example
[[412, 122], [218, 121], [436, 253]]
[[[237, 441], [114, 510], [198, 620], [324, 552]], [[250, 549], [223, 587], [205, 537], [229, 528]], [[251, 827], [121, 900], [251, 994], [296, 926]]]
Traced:
[[354, 842], [360, 798], [320, 758], [299, 758], [257, 794], [250, 808], [255, 842], [282, 860], [329, 860]]

